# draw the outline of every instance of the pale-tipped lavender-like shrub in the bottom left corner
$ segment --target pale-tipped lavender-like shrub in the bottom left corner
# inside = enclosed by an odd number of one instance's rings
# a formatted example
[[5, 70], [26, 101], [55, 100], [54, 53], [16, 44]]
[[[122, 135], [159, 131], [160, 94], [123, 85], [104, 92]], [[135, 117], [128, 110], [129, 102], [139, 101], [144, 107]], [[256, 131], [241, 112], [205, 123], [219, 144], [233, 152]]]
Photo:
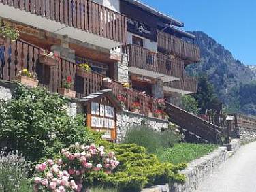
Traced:
[[[27, 163], [16, 153], [0, 153], [0, 191], [22, 191], [28, 185]], [[28, 190], [27, 190], [28, 191]]]

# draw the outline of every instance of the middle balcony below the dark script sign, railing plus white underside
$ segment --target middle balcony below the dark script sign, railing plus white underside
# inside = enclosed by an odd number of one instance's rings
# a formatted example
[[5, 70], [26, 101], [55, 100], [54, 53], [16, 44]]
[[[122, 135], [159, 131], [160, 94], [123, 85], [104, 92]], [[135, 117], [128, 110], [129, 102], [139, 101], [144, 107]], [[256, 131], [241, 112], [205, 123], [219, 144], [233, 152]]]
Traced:
[[134, 74], [161, 78], [163, 82], [179, 80], [183, 76], [184, 63], [181, 59], [166, 54], [151, 52], [146, 48], [129, 44], [129, 71]]

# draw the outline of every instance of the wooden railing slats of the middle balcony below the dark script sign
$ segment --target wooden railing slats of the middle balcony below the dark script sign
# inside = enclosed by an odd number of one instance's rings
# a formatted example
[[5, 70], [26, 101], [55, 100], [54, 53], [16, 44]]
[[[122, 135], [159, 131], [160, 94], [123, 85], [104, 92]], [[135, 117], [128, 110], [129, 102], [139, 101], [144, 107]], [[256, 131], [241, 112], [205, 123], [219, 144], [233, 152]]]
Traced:
[[184, 63], [181, 59], [170, 58], [166, 54], [151, 52], [141, 46], [129, 44], [125, 46], [129, 54], [129, 66], [154, 71], [167, 76], [182, 78]]

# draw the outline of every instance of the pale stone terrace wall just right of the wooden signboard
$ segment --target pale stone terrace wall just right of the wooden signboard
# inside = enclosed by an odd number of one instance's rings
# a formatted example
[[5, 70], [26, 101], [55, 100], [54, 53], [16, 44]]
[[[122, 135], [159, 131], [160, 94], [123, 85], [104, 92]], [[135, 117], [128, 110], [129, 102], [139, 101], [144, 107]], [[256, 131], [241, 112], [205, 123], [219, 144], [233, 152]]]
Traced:
[[161, 129], [168, 128], [167, 121], [158, 118], [147, 117], [142, 114], [136, 114], [134, 112], [123, 111], [120, 114], [117, 114], [117, 142], [121, 142], [121, 140], [125, 138], [125, 134], [129, 130], [129, 127], [133, 125], [142, 125], [142, 123], [153, 127], [153, 129], [156, 131], [161, 131]]

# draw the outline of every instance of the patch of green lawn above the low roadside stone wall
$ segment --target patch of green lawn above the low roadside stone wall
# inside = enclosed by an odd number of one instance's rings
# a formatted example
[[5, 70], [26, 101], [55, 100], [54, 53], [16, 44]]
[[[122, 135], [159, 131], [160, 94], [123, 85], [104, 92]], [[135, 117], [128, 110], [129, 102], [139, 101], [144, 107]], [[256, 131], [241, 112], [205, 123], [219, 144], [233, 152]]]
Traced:
[[189, 163], [194, 159], [208, 155], [208, 153], [211, 153], [216, 148], [218, 146], [214, 144], [178, 143], [174, 144], [172, 148], [159, 150], [156, 155], [163, 162], [174, 164]]

